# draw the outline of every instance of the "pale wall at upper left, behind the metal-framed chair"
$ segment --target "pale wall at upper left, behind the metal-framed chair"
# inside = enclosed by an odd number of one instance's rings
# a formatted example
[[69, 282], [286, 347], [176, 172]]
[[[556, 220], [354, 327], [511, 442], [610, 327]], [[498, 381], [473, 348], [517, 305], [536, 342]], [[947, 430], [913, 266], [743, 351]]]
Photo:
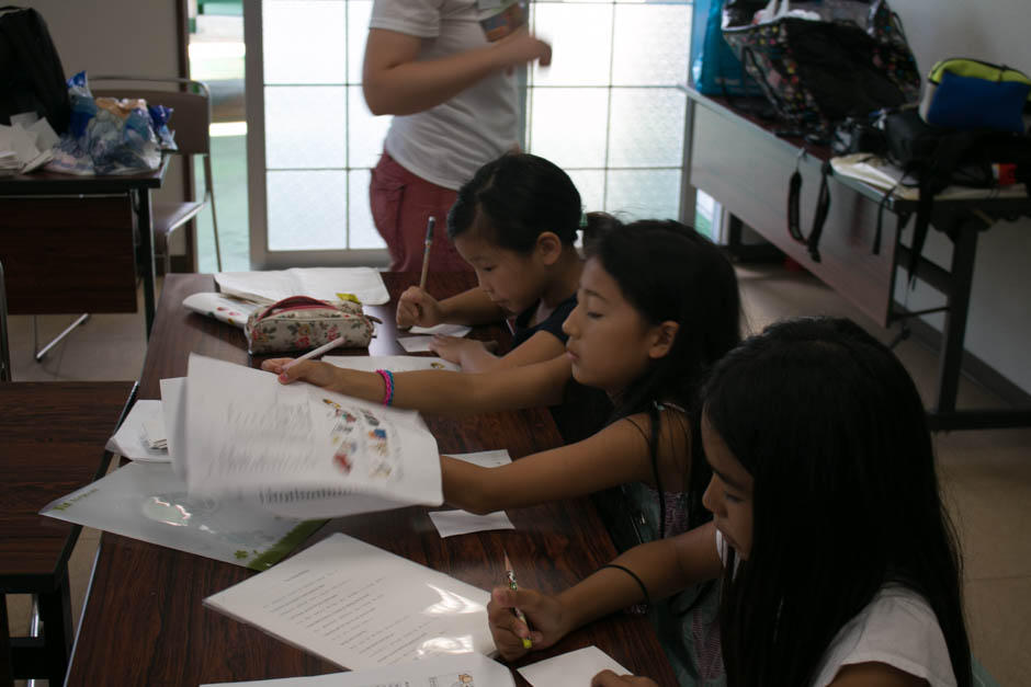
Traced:
[[[179, 76], [178, 0], [23, 0], [46, 21], [65, 76]], [[182, 171], [172, 159], [155, 198], [183, 197]], [[181, 233], [181, 232], [180, 232]]]

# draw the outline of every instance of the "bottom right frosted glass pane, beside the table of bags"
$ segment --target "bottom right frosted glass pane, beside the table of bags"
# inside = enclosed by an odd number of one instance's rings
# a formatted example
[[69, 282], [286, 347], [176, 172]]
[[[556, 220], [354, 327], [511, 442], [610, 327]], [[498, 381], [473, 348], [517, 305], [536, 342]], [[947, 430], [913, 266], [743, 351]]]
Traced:
[[677, 219], [680, 170], [609, 170], [605, 209], [623, 220]]

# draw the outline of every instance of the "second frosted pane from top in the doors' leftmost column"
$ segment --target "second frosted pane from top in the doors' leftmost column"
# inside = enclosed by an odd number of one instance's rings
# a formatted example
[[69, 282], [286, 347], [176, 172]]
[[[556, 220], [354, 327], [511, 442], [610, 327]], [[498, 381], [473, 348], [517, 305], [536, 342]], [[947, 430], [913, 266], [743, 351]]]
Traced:
[[344, 167], [345, 95], [343, 87], [267, 87], [265, 167]]

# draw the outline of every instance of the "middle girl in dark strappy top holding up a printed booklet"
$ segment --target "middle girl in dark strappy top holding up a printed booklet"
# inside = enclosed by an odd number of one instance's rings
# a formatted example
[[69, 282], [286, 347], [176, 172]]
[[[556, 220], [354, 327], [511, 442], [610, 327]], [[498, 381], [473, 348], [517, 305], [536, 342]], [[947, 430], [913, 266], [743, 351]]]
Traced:
[[[285, 358], [262, 368], [284, 383], [303, 379], [365, 400], [441, 414], [518, 409], [562, 400], [566, 376], [604, 392], [615, 412], [592, 436], [499, 468], [441, 457], [444, 499], [474, 513], [568, 499], [628, 484], [623, 512], [641, 511], [642, 537], [671, 536], [705, 518], [709, 468], [698, 456], [690, 407], [703, 373], [739, 341], [737, 279], [711, 241], [675, 221], [613, 226], [586, 248], [577, 306], [563, 329], [567, 356], [518, 369], [469, 375], [422, 370], [362, 373]], [[692, 589], [654, 617], [679, 627], [702, 618], [717, 630], [712, 589]], [[691, 612], [689, 612], [691, 611]], [[701, 637], [701, 636], [700, 636]], [[717, 652], [718, 659], [718, 652]], [[720, 673], [718, 661], [705, 666]], [[699, 654], [683, 656], [696, 673]]]

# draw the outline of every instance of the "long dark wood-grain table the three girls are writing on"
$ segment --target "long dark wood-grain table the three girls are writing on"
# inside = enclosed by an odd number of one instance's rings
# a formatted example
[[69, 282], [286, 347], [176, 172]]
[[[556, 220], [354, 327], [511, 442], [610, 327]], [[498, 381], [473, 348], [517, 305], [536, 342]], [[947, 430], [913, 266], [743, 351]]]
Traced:
[[[471, 285], [466, 275], [431, 275], [438, 296]], [[418, 283], [418, 275], [384, 274], [392, 297]], [[245, 365], [242, 332], [188, 312], [190, 294], [214, 290], [207, 275], [166, 277], [139, 397], [159, 398], [159, 380], [186, 374], [190, 352]], [[396, 343], [393, 307], [369, 308], [383, 320], [372, 355], [404, 353]], [[498, 332], [485, 332], [498, 337]], [[364, 353], [364, 351], [363, 351]], [[558, 433], [546, 410], [486, 413], [466, 420], [426, 416], [440, 450], [463, 453], [507, 448], [513, 458], [553, 448]], [[558, 592], [615, 556], [587, 499], [509, 511], [516, 530], [441, 539], [426, 515], [410, 507], [339, 518], [306, 546], [343, 531], [417, 563], [490, 589], [503, 580], [502, 549], [528, 587]], [[339, 672], [335, 664], [270, 638], [261, 630], [204, 608], [202, 599], [252, 571], [105, 533], [73, 649], [68, 685], [197, 685]], [[596, 644], [626, 667], [676, 684], [648, 621], [616, 614], [574, 632], [531, 661]], [[517, 676], [519, 684], [521, 678]]]

